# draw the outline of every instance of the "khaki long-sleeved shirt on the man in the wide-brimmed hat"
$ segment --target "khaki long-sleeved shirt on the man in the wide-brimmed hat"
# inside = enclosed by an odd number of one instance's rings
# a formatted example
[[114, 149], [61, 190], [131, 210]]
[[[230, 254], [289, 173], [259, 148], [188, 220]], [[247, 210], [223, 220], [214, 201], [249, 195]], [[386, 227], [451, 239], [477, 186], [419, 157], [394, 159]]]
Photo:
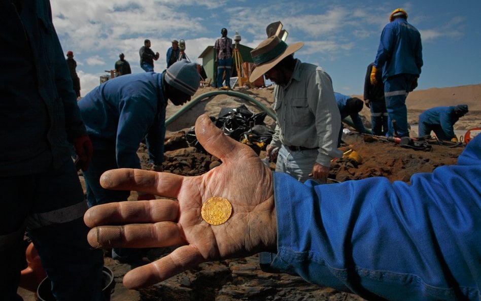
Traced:
[[337, 149], [340, 114], [331, 78], [322, 68], [297, 59], [289, 83], [274, 87], [272, 108], [277, 121], [271, 146], [319, 147], [316, 162], [323, 166], [342, 156]]

